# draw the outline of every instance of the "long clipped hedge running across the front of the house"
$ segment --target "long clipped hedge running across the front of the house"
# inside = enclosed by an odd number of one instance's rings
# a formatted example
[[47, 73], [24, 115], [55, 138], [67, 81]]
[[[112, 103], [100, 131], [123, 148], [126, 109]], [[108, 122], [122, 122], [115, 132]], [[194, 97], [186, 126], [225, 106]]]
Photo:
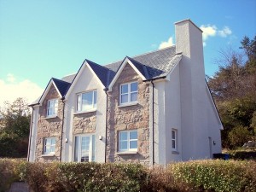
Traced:
[[28, 163], [0, 160], [0, 191], [25, 181], [44, 191], [255, 191], [256, 162], [197, 160], [148, 168], [139, 164]]

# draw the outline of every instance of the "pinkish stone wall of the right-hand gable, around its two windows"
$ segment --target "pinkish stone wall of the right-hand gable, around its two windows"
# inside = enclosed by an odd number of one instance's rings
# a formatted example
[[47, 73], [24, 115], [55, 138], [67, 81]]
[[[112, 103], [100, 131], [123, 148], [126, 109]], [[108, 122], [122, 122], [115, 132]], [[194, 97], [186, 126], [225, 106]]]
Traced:
[[[120, 84], [138, 82], [137, 105], [119, 107]], [[117, 154], [119, 131], [137, 129], [137, 154]], [[149, 84], [126, 64], [108, 93], [107, 160], [149, 164]]]

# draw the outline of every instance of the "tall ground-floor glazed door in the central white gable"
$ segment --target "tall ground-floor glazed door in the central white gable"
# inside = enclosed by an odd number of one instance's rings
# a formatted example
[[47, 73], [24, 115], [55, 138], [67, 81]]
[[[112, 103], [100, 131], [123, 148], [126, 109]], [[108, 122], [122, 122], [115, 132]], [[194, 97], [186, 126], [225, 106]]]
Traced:
[[83, 135], [75, 137], [74, 161], [95, 161], [95, 135]]

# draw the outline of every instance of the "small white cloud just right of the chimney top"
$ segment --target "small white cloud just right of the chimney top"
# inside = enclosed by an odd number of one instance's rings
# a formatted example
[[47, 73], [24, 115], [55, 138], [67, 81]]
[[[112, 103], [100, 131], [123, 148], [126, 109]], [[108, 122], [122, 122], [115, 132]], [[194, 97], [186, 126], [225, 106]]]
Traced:
[[202, 25], [200, 26], [201, 30], [203, 31], [202, 37], [203, 37], [203, 45], [207, 46], [207, 38], [209, 37], [221, 37], [221, 38], [226, 38], [228, 35], [232, 34], [232, 31], [230, 30], [229, 26], [224, 26], [223, 29], [218, 30], [218, 27], [215, 25]]

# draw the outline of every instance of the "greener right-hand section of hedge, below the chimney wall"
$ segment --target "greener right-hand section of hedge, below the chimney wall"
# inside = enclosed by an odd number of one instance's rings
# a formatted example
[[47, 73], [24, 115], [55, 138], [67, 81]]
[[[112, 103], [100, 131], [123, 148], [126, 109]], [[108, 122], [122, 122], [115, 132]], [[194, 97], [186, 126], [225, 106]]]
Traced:
[[177, 181], [194, 191], [255, 191], [255, 161], [195, 160], [168, 166]]

